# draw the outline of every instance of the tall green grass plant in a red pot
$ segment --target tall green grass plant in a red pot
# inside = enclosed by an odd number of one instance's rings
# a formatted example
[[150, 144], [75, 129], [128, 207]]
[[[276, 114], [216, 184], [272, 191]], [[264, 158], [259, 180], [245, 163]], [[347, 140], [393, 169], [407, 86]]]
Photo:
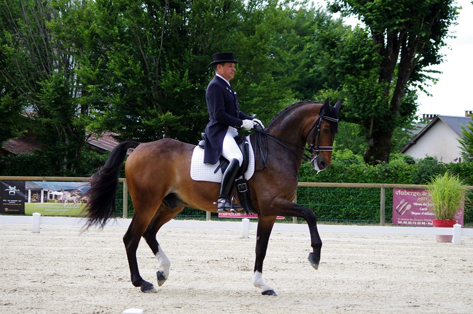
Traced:
[[[437, 174], [430, 178], [427, 190], [432, 200], [432, 212], [435, 219], [432, 220], [434, 227], [453, 227], [457, 222], [455, 214], [463, 205], [465, 191], [465, 180], [458, 175], [448, 171], [445, 174]], [[451, 242], [452, 236], [437, 235], [437, 242]]]

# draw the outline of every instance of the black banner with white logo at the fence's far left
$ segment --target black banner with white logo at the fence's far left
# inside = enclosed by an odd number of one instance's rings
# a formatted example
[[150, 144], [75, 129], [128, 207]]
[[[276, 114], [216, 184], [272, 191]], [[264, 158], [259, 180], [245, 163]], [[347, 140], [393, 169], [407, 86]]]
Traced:
[[25, 181], [0, 181], [0, 213], [25, 214]]

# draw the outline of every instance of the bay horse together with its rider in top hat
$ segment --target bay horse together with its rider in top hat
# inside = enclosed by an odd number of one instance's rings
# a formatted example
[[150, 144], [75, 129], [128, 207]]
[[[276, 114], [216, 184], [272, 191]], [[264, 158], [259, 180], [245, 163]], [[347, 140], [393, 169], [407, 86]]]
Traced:
[[[213, 56], [216, 75], [208, 84], [206, 93], [210, 122], [205, 129], [204, 162], [215, 164], [221, 155], [231, 162], [220, 186], [220, 210], [231, 209], [230, 193], [241, 163], [240, 151], [233, 137], [238, 128], [252, 129], [255, 123], [259, 123], [238, 108], [235, 92], [229, 84], [235, 73], [235, 63], [233, 53]], [[312, 247], [307, 259], [314, 269], [319, 267], [322, 239], [317, 229], [317, 217], [312, 209], [293, 200], [303, 160], [310, 162], [317, 172], [326, 169], [332, 162], [340, 105], [338, 101], [332, 106], [328, 99], [325, 103], [299, 102], [278, 113], [264, 131], [257, 130], [262, 145], [259, 145], [260, 154], [259, 158], [255, 156], [254, 167], [261, 171], [248, 178], [248, 189], [251, 191], [251, 204], [258, 214], [252, 282], [263, 295], [276, 295], [263, 280], [263, 262], [277, 216], [304, 218]], [[254, 147], [258, 146], [257, 139], [256, 134], [249, 136], [249, 142], [255, 143]], [[123, 243], [133, 285], [140, 287], [142, 292], [156, 292], [154, 285], [139, 274], [136, 250], [140, 240], [145, 239], [158, 260], [156, 278], [158, 285], [162, 286], [169, 278], [170, 260], [158, 243], [158, 231], [186, 207], [210, 212], [218, 210], [213, 200], [219, 185], [192, 178], [191, 161], [195, 145], [169, 138], [148, 143], [123, 141], [91, 178], [90, 189], [85, 194], [88, 198], [84, 209], [87, 212], [86, 228], [94, 224], [103, 227], [108, 219], [116, 216], [115, 199], [120, 169], [129, 148], [134, 148], [134, 151], [125, 163], [125, 175], [134, 213]], [[253, 151], [250, 153], [254, 154]], [[200, 165], [203, 166], [202, 163]]]

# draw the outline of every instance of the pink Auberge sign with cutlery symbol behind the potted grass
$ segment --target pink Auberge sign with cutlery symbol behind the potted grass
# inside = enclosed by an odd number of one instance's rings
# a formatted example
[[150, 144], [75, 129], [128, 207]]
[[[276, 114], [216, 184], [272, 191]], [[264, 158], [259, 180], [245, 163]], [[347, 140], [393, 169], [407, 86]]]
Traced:
[[[435, 214], [431, 208], [432, 201], [427, 190], [393, 189], [394, 225], [432, 226]], [[457, 210], [455, 219], [463, 226], [463, 205]]]

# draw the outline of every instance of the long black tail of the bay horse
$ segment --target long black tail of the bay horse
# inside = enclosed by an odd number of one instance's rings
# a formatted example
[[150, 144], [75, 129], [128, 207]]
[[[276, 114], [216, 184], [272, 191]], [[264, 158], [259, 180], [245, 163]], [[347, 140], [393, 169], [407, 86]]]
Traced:
[[127, 155], [128, 148], [135, 148], [139, 143], [124, 141], [117, 145], [108, 156], [105, 165], [92, 175], [90, 189], [84, 194], [88, 198], [83, 211], [87, 212], [86, 229], [92, 225], [105, 225], [107, 220], [115, 216], [115, 198], [118, 189], [120, 166]]

